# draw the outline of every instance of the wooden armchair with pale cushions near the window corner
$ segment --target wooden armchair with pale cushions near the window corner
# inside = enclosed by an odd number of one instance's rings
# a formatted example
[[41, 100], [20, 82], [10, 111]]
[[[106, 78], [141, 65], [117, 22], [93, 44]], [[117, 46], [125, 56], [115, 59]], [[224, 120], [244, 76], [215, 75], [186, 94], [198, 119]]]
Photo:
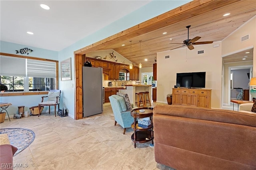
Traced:
[[[60, 93], [61, 90], [50, 90], [48, 96], [42, 96], [41, 103], [38, 104], [39, 114], [42, 112], [41, 106], [49, 106], [49, 114], [50, 114], [50, 106], [54, 106], [54, 115], [56, 117], [56, 105], [58, 105], [58, 109], [60, 109]], [[44, 98], [48, 98], [47, 102], [44, 102]]]

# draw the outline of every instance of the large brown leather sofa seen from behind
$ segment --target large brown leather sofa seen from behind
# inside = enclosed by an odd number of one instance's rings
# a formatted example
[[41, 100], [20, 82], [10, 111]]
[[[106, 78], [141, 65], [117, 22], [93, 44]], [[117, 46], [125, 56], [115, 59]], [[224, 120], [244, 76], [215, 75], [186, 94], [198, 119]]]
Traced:
[[156, 105], [155, 160], [177, 170], [256, 170], [256, 114]]

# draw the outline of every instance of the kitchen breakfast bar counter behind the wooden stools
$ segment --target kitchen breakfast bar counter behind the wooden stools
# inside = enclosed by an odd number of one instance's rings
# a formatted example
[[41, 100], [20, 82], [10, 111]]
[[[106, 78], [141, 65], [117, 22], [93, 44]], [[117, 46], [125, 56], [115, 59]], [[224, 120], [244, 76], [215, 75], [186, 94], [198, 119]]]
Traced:
[[119, 89], [120, 93], [127, 93], [129, 100], [133, 106], [136, 106], [136, 95], [139, 92], [149, 92], [149, 98], [151, 100], [151, 86], [152, 85], [142, 85], [142, 84], [129, 84], [125, 85], [126, 89]]

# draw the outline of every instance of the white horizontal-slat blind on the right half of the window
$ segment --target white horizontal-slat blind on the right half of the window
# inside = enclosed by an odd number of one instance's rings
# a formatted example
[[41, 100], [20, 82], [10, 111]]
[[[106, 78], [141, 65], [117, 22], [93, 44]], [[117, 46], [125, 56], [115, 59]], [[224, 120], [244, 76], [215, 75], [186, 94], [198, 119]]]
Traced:
[[28, 77], [56, 78], [56, 63], [27, 59]]

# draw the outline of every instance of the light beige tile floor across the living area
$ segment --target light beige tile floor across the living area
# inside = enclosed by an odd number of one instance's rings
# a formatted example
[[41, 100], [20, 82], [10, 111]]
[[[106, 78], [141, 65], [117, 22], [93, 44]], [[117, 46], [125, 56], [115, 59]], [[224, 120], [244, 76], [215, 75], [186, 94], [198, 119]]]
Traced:
[[[156, 103], [154, 103], [156, 104]], [[172, 169], [154, 160], [154, 147], [149, 143], [131, 141], [132, 129], [114, 126], [110, 103], [104, 104], [102, 114], [74, 120], [43, 113], [13, 119], [0, 128], [27, 128], [34, 131], [33, 143], [14, 156], [14, 164], [28, 164], [26, 170], [154, 170]]]

